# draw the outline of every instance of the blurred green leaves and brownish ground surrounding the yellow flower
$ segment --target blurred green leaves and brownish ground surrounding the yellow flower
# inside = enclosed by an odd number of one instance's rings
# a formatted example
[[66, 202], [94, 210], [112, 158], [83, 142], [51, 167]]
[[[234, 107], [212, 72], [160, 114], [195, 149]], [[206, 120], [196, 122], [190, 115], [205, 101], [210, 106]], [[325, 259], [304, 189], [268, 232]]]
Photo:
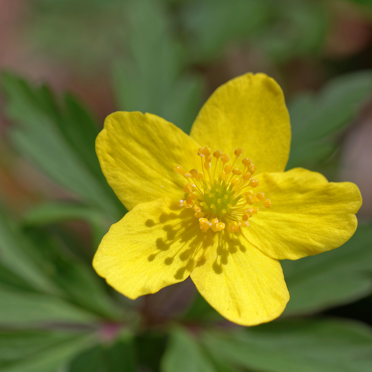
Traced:
[[[372, 1], [0, 0], [0, 371], [372, 371]], [[135, 301], [91, 266], [125, 209], [94, 152], [114, 110], [189, 132], [230, 78], [264, 72], [288, 169], [355, 182], [342, 247], [282, 261], [268, 324], [224, 320], [191, 280]]]

